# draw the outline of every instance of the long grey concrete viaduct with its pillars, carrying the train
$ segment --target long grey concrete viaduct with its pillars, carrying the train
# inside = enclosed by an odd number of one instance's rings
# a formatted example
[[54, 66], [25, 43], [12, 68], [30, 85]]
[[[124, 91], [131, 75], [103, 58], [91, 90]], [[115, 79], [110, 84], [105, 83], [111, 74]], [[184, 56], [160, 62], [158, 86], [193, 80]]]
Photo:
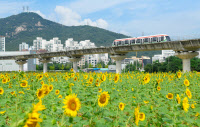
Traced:
[[77, 62], [81, 59], [81, 56], [88, 54], [102, 54], [109, 53], [111, 58], [116, 61], [116, 73], [121, 73], [121, 61], [126, 57], [128, 52], [138, 51], [153, 51], [153, 50], [174, 50], [175, 56], [179, 57], [183, 61], [183, 72], [190, 71], [190, 59], [197, 56], [197, 50], [200, 48], [200, 39], [181, 40], [181, 41], [169, 41], [152, 44], [136, 44], [117, 47], [103, 47], [92, 49], [79, 49], [61, 52], [49, 52], [42, 54], [28, 54], [18, 56], [2, 56], [0, 60], [14, 59], [20, 66], [20, 70], [23, 71], [23, 64], [28, 59], [38, 58], [43, 63], [43, 73], [47, 72], [47, 63], [51, 61], [53, 57], [67, 56], [69, 60], [73, 62], [73, 69], [77, 72]]

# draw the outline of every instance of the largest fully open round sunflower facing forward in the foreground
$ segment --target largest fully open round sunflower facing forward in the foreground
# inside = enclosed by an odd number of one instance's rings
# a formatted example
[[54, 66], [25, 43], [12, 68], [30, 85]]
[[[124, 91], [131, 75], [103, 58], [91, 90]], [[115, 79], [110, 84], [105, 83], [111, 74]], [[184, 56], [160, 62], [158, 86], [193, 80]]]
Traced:
[[63, 99], [63, 103], [63, 108], [65, 108], [64, 112], [68, 116], [75, 117], [77, 111], [81, 108], [81, 102], [76, 94], [66, 96], [65, 99]]

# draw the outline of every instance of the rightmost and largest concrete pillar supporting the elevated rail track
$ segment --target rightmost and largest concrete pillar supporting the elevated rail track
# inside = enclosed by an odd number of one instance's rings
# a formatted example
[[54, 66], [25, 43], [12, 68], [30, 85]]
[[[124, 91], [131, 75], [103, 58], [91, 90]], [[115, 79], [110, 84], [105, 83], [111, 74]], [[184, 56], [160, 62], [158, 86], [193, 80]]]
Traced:
[[179, 57], [180, 59], [182, 59], [183, 62], [183, 72], [189, 72], [191, 71], [190, 68], [190, 59], [197, 56], [199, 53], [192, 51], [183, 51], [183, 52], [176, 52], [175, 56]]

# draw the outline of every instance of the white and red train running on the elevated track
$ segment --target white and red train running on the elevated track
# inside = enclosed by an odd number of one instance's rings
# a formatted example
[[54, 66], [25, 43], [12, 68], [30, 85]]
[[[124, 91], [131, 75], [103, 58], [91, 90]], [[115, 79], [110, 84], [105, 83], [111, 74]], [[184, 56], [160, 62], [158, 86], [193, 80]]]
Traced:
[[166, 41], [171, 41], [170, 37], [167, 34], [158, 34], [150, 36], [116, 39], [113, 41], [112, 46], [151, 44], [151, 43], [166, 42]]

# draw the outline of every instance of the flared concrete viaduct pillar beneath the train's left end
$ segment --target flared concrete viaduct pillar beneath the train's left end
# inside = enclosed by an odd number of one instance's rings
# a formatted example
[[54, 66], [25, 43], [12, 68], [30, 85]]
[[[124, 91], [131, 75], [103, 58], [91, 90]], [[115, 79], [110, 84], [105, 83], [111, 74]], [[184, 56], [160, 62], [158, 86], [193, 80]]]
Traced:
[[122, 60], [126, 58], [125, 54], [115, 54], [110, 56], [111, 59], [114, 59], [116, 61], [116, 73], [121, 74], [122, 70]]

